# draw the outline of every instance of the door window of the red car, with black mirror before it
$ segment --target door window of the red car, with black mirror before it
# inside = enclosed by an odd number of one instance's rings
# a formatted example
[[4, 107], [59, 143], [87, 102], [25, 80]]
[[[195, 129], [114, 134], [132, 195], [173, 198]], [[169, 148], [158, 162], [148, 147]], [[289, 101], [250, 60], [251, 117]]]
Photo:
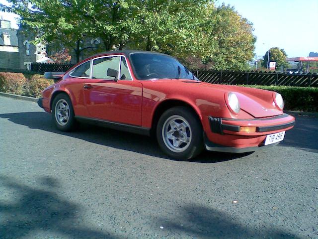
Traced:
[[110, 79], [118, 77], [120, 56], [103, 57], [93, 61], [92, 79]]

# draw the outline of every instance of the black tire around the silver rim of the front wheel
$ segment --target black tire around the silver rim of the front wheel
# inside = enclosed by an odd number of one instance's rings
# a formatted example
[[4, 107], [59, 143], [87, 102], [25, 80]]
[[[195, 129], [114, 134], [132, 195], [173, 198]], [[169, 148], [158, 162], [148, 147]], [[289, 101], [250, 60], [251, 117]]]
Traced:
[[[180, 119], [178, 119], [178, 117]], [[185, 121], [183, 119], [185, 119]], [[166, 132], [169, 131], [171, 134], [170, 130], [172, 131], [174, 130], [171, 128], [171, 123], [169, 124], [170, 120], [174, 122], [178, 122], [178, 123], [182, 123], [182, 121], [184, 121], [186, 123], [185, 125], [189, 124], [189, 127], [186, 128], [186, 136], [185, 136], [187, 137], [189, 141], [188, 143], [181, 142], [181, 145], [180, 145], [181, 151], [177, 151], [179, 147], [173, 148], [174, 139], [168, 139], [167, 137], [165, 137], [165, 133], [164, 133], [165, 131]], [[175, 140], [179, 140], [180, 137], [183, 138], [184, 134], [182, 133], [182, 131], [179, 131], [179, 130], [176, 130], [176, 131], [178, 132], [176, 133], [174, 131], [172, 135], [173, 137], [175, 137]], [[167, 132], [166, 135], [169, 132]], [[180, 134], [180, 132], [182, 134]], [[195, 113], [187, 107], [183, 107], [183, 106], [173, 107], [165, 111], [161, 115], [158, 121], [156, 134], [157, 134], [157, 140], [158, 140], [160, 148], [162, 149], [164, 153], [166, 153], [171, 158], [174, 158], [177, 160], [188, 160], [197, 156], [203, 150], [203, 129], [202, 129], [201, 122], [198, 119], [198, 117], [195, 115]], [[191, 136], [191, 138], [189, 135]], [[185, 146], [181, 148], [182, 145], [185, 145]]]

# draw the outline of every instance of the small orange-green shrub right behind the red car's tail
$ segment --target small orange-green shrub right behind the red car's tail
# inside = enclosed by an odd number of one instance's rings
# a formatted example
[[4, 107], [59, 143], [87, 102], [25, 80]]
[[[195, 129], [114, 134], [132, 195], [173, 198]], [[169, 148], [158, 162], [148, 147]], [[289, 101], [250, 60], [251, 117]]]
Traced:
[[43, 75], [31, 75], [24, 86], [24, 95], [39, 98], [41, 92], [53, 83], [53, 80], [45, 79]]

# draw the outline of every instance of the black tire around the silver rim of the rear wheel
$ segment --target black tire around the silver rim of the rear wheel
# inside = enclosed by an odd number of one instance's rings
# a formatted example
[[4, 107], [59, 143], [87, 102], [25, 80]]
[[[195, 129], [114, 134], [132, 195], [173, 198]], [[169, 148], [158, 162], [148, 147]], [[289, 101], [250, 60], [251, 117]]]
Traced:
[[[63, 120], [63, 121], [58, 121], [58, 119], [61, 119], [60, 116], [57, 114], [57, 109], [59, 107], [59, 105], [62, 103], [66, 103], [68, 106], [68, 119]], [[66, 105], [64, 104], [64, 105]], [[65, 114], [65, 113], [63, 113]], [[73, 105], [71, 102], [70, 97], [65, 94], [65, 93], [60, 93], [58, 94], [52, 103], [52, 119], [54, 121], [55, 126], [64, 132], [67, 131], [71, 131], [75, 128], [75, 124], [76, 124], [76, 119], [74, 117], [74, 110], [73, 110]]]

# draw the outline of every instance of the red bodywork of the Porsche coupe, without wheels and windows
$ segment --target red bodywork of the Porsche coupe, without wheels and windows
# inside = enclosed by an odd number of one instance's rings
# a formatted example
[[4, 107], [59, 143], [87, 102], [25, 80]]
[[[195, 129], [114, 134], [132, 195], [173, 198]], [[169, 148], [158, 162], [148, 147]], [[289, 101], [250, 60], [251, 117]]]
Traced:
[[[72, 101], [76, 119], [108, 122], [142, 134], [152, 132], [164, 110], [188, 106], [202, 123], [205, 148], [212, 151], [254, 151], [264, 145], [266, 135], [289, 130], [294, 125], [294, 117], [275, 104], [274, 92], [190, 79], [139, 80], [129, 54], [130, 51], [99, 54], [72, 69], [97, 57], [122, 55], [132, 80], [72, 77], [70, 69], [61, 80], [43, 91], [40, 106], [51, 113], [53, 98], [64, 92]], [[227, 104], [229, 92], [234, 92], [239, 99], [238, 114]]]

